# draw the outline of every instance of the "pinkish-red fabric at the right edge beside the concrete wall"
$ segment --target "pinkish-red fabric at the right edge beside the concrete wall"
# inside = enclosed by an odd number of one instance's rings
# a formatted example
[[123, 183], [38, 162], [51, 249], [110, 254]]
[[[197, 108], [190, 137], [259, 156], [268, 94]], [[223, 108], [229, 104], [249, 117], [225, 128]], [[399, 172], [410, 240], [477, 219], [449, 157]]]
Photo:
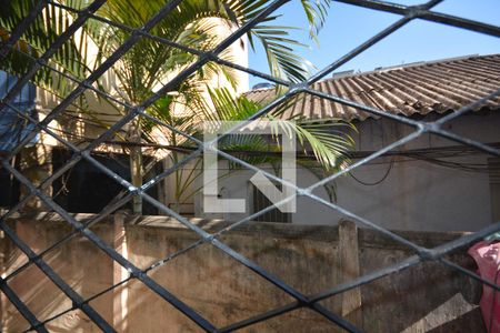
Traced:
[[[481, 278], [498, 284], [498, 278], [500, 278], [500, 274], [497, 274], [500, 270], [500, 243], [480, 242], [470, 248], [468, 253], [476, 260]], [[482, 297], [479, 305], [488, 332], [500, 333], [500, 292], [494, 292], [492, 287], [482, 284]]]

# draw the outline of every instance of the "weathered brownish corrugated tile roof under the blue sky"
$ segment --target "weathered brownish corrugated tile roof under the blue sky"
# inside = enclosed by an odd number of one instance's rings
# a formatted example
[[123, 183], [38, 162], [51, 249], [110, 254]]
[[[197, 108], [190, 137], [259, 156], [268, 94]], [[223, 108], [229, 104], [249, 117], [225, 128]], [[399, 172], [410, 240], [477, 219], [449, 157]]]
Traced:
[[[467, 105], [500, 88], [500, 54], [473, 56], [433, 62], [392, 67], [352, 75], [327, 79], [313, 89], [360, 104], [404, 115], [444, 113]], [[254, 101], [269, 101], [273, 89], [246, 93]], [[500, 98], [480, 109], [500, 109]], [[477, 111], [477, 110], [476, 110]], [[301, 114], [309, 119], [342, 118], [364, 120], [373, 117], [351, 107], [304, 94], [283, 118]]]

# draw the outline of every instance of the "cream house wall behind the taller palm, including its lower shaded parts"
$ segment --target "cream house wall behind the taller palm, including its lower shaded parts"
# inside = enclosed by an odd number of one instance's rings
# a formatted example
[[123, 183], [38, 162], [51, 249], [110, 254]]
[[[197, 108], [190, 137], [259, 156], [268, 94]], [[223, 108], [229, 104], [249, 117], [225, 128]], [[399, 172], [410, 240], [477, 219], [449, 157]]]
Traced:
[[[59, 13], [59, 12], [58, 12]], [[232, 33], [236, 28], [230, 23], [227, 23], [218, 18], [208, 19], [211, 24], [216, 24], [218, 27], [217, 33], [219, 40], [223, 40], [230, 33]], [[74, 39], [79, 41], [81, 38], [80, 32], [74, 34]], [[79, 42], [77, 42], [79, 43]], [[96, 57], [98, 53], [97, 46], [91, 41], [87, 44], [88, 48], [88, 65], [89, 68], [94, 67]], [[231, 60], [238, 59], [238, 64], [247, 67], [248, 65], [248, 50], [247, 50], [247, 40], [242, 38], [231, 44], [224, 57], [230, 57]], [[117, 62], [113, 65], [113, 69], [117, 70], [120, 68], [120, 62]], [[100, 78], [100, 83], [103, 87], [103, 90], [122, 100], [120, 93], [117, 91], [119, 88], [117, 84], [117, 75], [113, 72], [113, 69], [108, 70]], [[248, 91], [248, 74], [241, 71], [234, 71], [234, 81], [236, 87], [232, 87], [230, 82], [227, 80], [226, 75], [213, 75], [211, 80], [208, 82], [210, 87], [227, 87], [230, 90], [233, 90], [234, 93], [242, 93], [243, 91]], [[162, 83], [168, 82], [169, 79], [172, 79], [178, 73], [172, 72], [167, 75], [167, 78], [162, 78]], [[58, 82], [61, 78], [53, 74], [54, 82]], [[64, 84], [68, 85], [68, 92], [78, 87], [77, 83], [63, 79]], [[156, 89], [160, 89], [160, 84], [156, 87]], [[204, 92], [208, 94], [207, 92]], [[97, 98], [96, 93], [86, 91], [83, 93], [86, 97], [86, 102], [88, 109], [83, 112], [81, 109], [76, 108], [74, 105], [70, 105], [64, 112], [62, 112], [56, 120], [49, 123], [49, 128], [56, 132], [58, 135], [62, 137], [64, 140], [72, 142], [77, 147], [86, 147], [88, 142], [86, 140], [98, 138], [104, 130], [116, 123], [119, 119], [124, 114], [122, 108], [119, 105], [114, 107], [111, 103], [106, 102], [106, 99], [100, 97]], [[57, 97], [52, 92], [37, 88], [37, 111], [39, 112], [39, 120], [43, 120], [47, 114], [52, 112], [52, 110], [61, 102], [63, 97]], [[118, 108], [118, 110], [117, 110]], [[121, 111], [120, 111], [121, 110]], [[176, 105], [174, 111], [182, 112], [182, 105]], [[90, 114], [90, 115], [89, 115]], [[121, 129], [121, 138], [127, 137], [127, 127], [124, 125]], [[120, 132], [120, 131], [119, 131]], [[156, 143], [158, 144], [170, 144], [168, 142], [164, 131], [161, 131], [158, 127], [152, 131], [152, 137], [154, 138]], [[23, 160], [23, 173], [36, 184], [39, 184], [41, 180], [48, 178], [51, 172], [51, 148], [52, 147], [61, 147], [62, 144], [58, 142], [54, 138], [41, 131], [39, 144], [37, 149], [23, 150], [22, 160]], [[64, 147], [66, 148], [66, 147]], [[123, 153], [124, 149], [119, 145], [100, 145], [96, 150], [104, 151], [104, 152], [114, 152], [114, 153]], [[143, 149], [142, 153], [144, 155], [152, 155], [154, 159], [160, 160], [168, 154], [166, 150], [148, 150]], [[1, 191], [1, 189], [0, 189]], [[24, 189], [22, 189], [23, 195], [26, 194]], [[159, 192], [164, 192], [163, 190], [159, 190]], [[49, 189], [50, 193], [50, 189]], [[168, 195], [168, 193], [160, 193], [159, 196]], [[167, 202], [169, 203], [169, 202]], [[38, 200], [32, 200], [32, 205], [36, 209], [46, 209], [43, 204]], [[192, 206], [192, 200], [191, 200]], [[192, 210], [192, 208], [191, 208]]]

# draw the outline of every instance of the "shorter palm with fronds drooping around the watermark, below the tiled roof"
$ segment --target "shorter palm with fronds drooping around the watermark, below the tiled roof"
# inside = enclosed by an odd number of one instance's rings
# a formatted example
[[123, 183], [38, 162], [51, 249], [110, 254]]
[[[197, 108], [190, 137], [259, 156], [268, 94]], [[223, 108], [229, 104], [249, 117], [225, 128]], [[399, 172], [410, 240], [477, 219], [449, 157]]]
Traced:
[[[234, 122], [243, 121], [254, 115], [259, 110], [266, 107], [263, 102], [257, 102], [248, 99], [246, 95], [233, 97], [227, 88], [210, 89], [209, 98], [203, 100], [206, 104], [202, 108], [193, 110], [193, 113], [183, 117], [174, 117], [170, 110], [169, 101], [166, 98], [156, 104], [157, 117], [170, 127], [176, 127], [191, 135], [202, 140], [202, 131], [200, 122]], [[301, 97], [299, 97], [301, 98]], [[291, 102], [297, 102], [292, 100]], [[269, 103], [269, 102], [267, 102]], [[273, 109], [262, 118], [266, 120], [283, 120], [282, 113], [288, 108]], [[281, 128], [281, 133], [293, 131], [299, 148], [302, 150], [301, 157], [298, 157], [297, 164], [309, 170], [318, 179], [322, 179], [328, 174], [338, 172], [340, 168], [349, 163], [347, 152], [354, 147], [354, 141], [348, 134], [349, 130], [356, 131], [356, 128], [340, 119], [321, 119], [310, 120], [303, 117], [294, 117], [289, 122], [276, 122], [276, 124], [286, 127]], [[272, 123], [272, 122], [271, 122]], [[274, 130], [278, 133], [278, 130]], [[236, 158], [253, 165], [270, 164], [274, 173], [279, 175], [281, 164], [281, 148], [279, 135], [272, 135], [271, 142], [262, 135], [249, 134], [231, 134], [221, 140], [218, 149], [234, 155]], [[196, 147], [186, 140], [182, 135], [173, 131], [169, 132], [169, 142], [176, 148], [169, 154], [172, 164], [178, 163], [182, 158], [192, 151]], [[220, 158], [220, 160], [226, 160]], [[202, 160], [196, 160], [193, 165], [188, 169], [177, 170], [173, 178], [176, 182], [176, 192], [173, 206], [180, 209], [202, 188], [196, 188], [196, 180], [202, 174]], [[243, 168], [236, 162], [228, 163], [230, 175], [232, 172], [239, 172]], [[330, 200], [336, 200], [334, 184], [324, 185]]]

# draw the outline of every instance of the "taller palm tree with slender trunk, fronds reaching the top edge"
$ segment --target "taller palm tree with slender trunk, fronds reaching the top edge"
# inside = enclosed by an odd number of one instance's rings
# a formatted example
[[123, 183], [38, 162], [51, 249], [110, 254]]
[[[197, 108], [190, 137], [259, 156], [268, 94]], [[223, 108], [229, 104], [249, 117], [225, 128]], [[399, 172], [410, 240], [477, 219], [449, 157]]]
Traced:
[[[6, 3], [0, 13], [0, 32], [7, 40], [19, 21], [27, 16], [34, 0], [14, 0]], [[164, 1], [139, 1], [139, 0], [109, 0], [97, 12], [100, 17], [127, 27], [142, 27], [149, 18], [157, 13]], [[258, 16], [269, 0], [230, 0], [230, 1], [202, 1], [184, 0], [177, 10], [167, 14], [150, 33], [176, 43], [199, 51], [208, 51], [220, 41], [218, 28], [221, 23], [228, 27], [240, 27]], [[61, 0], [74, 9], [84, 8], [88, 0]], [[321, 28], [330, 0], [301, 0], [303, 12], [309, 21], [310, 34], [313, 38]], [[43, 52], [56, 36], [63, 31], [71, 22], [77, 11], [67, 11], [48, 4], [43, 16], [39, 16], [23, 39], [18, 42], [7, 61], [2, 61], [0, 68], [16, 74], [22, 74], [30, 65], [31, 57]], [[304, 80], [312, 65], [293, 52], [293, 48], [300, 46], [289, 36], [287, 27], [273, 24], [276, 17], [269, 17], [247, 33], [251, 48], [260, 42], [263, 47], [270, 72], [272, 75], [292, 82]], [[217, 22], [214, 21], [217, 20]], [[51, 59], [50, 63], [64, 73], [76, 79], [83, 79], [91, 70], [92, 64], [98, 65], [103, 59], [111, 54], [130, 36], [130, 31], [109, 26], [102, 21], [89, 20], [82, 28], [79, 39], [72, 39], [64, 43]], [[98, 48], [97, 59], [93, 63], [89, 61], [89, 43]], [[231, 61], [229, 52], [219, 54], [222, 59]], [[169, 74], [179, 72], [197, 60], [196, 54], [161, 43], [159, 41], [142, 38], [131, 50], [129, 50], [112, 69], [116, 75], [113, 93], [119, 94], [127, 103], [138, 104], [150, 97], [154, 89], [163, 83]], [[236, 84], [234, 72], [218, 63], [209, 62], [194, 74], [187, 78], [173, 94], [162, 97], [151, 105], [147, 112], [176, 127], [182, 127], [187, 131], [196, 132], [196, 120], [218, 117], [221, 120], [243, 119], [244, 114], [254, 112], [258, 105], [244, 98], [234, 98], [230, 90], [212, 90], [211, 102], [207, 103], [207, 83], [214, 75], [222, 75], [230, 84]], [[48, 70], [40, 71], [34, 82], [54, 94], [64, 95], [64, 80]], [[101, 89], [106, 88], [103, 82], [99, 83]], [[281, 90], [282, 91], [282, 90]], [[173, 114], [174, 105], [183, 104], [182, 115]], [[86, 109], [84, 97], [79, 100], [77, 108]], [[213, 109], [214, 112], [213, 112]], [[221, 112], [222, 110], [231, 112]], [[124, 112], [121, 109], [118, 111]], [[211, 110], [211, 111], [207, 111]], [[92, 114], [92, 111], [88, 111]], [[201, 118], [200, 114], [203, 114]], [[196, 117], [194, 117], [196, 115]], [[323, 123], [333, 123], [334, 120], [324, 120]], [[129, 140], [140, 141], [153, 140], [150, 135], [153, 124], [147, 119], [138, 118], [129, 128]], [[296, 130], [311, 147], [318, 161], [324, 167], [338, 168], [338, 157], [342, 148], [349, 145], [349, 140], [338, 135], [322, 135], [318, 132], [318, 123], [312, 127], [300, 123]], [[324, 128], [322, 128], [324, 130]], [[321, 134], [321, 135], [320, 135]], [[168, 134], [172, 145], [182, 144], [182, 140], [174, 133]], [[346, 139], [346, 140], [344, 140]], [[143, 170], [141, 149], [130, 149], [132, 183], [136, 186], [142, 184]], [[171, 158], [177, 160], [178, 154]], [[176, 162], [176, 161], [174, 161]], [[182, 172], [182, 171], [179, 171]], [[134, 198], [134, 212], [140, 213], [140, 196]]]

